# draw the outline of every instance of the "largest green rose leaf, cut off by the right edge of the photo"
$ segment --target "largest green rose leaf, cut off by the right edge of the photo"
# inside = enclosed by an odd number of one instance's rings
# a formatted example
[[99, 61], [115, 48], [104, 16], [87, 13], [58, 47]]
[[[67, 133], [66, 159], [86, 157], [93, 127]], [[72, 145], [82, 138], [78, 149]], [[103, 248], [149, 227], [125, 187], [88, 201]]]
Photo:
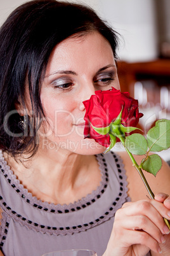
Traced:
[[170, 147], [170, 120], [158, 120], [147, 133], [149, 151], [159, 152]]

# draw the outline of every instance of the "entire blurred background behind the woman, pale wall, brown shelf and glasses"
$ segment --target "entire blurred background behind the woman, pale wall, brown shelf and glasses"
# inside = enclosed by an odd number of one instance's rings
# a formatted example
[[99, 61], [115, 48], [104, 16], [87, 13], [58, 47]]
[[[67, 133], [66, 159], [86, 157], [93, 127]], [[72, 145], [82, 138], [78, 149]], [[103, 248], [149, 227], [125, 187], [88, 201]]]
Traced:
[[[23, 0], [0, 0], [0, 25]], [[72, 0], [91, 6], [121, 34], [118, 73], [121, 90], [138, 99], [146, 134], [160, 118], [170, 119], [170, 1]], [[160, 153], [170, 160], [170, 150]]]

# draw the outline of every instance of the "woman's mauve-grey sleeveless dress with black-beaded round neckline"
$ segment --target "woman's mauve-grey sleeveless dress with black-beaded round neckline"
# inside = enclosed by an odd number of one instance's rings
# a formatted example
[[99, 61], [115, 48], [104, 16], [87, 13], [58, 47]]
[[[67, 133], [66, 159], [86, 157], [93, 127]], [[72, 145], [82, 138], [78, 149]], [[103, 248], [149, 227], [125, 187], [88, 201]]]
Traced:
[[41, 256], [68, 249], [103, 255], [115, 211], [130, 199], [119, 156], [108, 152], [96, 159], [102, 174], [100, 186], [75, 203], [55, 205], [33, 197], [0, 152], [0, 248], [5, 256]]

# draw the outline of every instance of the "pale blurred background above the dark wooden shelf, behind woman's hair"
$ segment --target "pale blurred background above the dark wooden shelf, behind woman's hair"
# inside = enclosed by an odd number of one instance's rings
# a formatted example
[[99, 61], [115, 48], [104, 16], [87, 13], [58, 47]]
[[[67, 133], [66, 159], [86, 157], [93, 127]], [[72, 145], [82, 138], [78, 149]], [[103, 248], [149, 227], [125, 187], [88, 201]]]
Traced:
[[[1, 0], [0, 24], [28, 0]], [[130, 62], [170, 57], [169, 0], [72, 0], [94, 8], [123, 39], [119, 56]]]

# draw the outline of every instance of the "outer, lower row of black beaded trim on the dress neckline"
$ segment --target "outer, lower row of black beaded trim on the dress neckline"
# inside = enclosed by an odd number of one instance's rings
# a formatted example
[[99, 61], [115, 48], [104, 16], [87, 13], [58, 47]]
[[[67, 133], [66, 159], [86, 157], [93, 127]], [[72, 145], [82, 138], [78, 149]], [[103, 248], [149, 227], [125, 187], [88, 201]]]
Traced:
[[[114, 155], [114, 153], [113, 153]], [[117, 157], [116, 155], [114, 155], [114, 158], [115, 158], [115, 162], [117, 162]], [[117, 159], [117, 160], [116, 160]], [[117, 164], [117, 167], [119, 168], [119, 164]], [[120, 180], [122, 180], [122, 176], [121, 176], [121, 169], [118, 169], [119, 171], [119, 178]], [[62, 231], [65, 231], [64, 232], [64, 235], [67, 234], [69, 231], [73, 230], [75, 232], [79, 232], [79, 231], [82, 231], [82, 229], [86, 228], [86, 229], [89, 229], [91, 227], [94, 227], [95, 225], [98, 225], [100, 224], [100, 222], [103, 222], [102, 220], [104, 218], [107, 218], [107, 216], [110, 215], [110, 213], [114, 210], [116, 204], [118, 203], [118, 201], [120, 200], [120, 197], [122, 196], [122, 191], [123, 191], [123, 183], [122, 181], [120, 181], [120, 192], [119, 192], [119, 196], [115, 199], [115, 201], [112, 203], [112, 206], [110, 206], [110, 208], [108, 209], [108, 211], [106, 211], [102, 216], [100, 216], [99, 218], [96, 218], [96, 220], [94, 220], [93, 222], [89, 222], [89, 223], [86, 223], [86, 224], [83, 224], [83, 225], [77, 225], [77, 226], [73, 226], [73, 227], [49, 227], [49, 226], [45, 226], [45, 225], [41, 225], [41, 224], [37, 224], [35, 222], [33, 222], [32, 220], [28, 220], [27, 218], [25, 217], [22, 217], [22, 215], [16, 213], [16, 211], [12, 211], [11, 208], [3, 201], [3, 197], [0, 196], [0, 202], [2, 203], [3, 205], [3, 208], [6, 208], [6, 210], [8, 212], [10, 212], [10, 216], [12, 218], [14, 218], [16, 221], [17, 220], [20, 220], [21, 224], [23, 225], [27, 225], [29, 226], [30, 225], [30, 228], [31, 226], [32, 227], [35, 227], [35, 228], [39, 228], [39, 231], [42, 231], [44, 233], [50, 233], [50, 234], [56, 234], [56, 235], [59, 235], [61, 234]], [[93, 199], [95, 200], [95, 199]], [[38, 207], [37, 205], [35, 205], [34, 207]], [[73, 208], [72, 211], [75, 211], [75, 209]], [[85, 230], [86, 230], [85, 229]], [[7, 231], [8, 232], [8, 231]], [[3, 243], [3, 242], [2, 242]], [[0, 245], [1, 246], [1, 245]]]

